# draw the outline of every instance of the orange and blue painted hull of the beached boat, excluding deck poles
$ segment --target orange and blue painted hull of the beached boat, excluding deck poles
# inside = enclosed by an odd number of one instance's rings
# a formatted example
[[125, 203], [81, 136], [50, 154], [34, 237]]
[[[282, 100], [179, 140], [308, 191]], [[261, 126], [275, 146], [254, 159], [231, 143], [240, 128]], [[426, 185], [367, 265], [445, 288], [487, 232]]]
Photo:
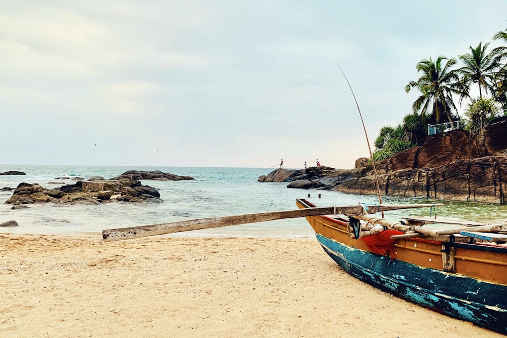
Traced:
[[[315, 207], [306, 200], [297, 200], [297, 205]], [[394, 241], [383, 255], [363, 240], [351, 239], [343, 215], [306, 219], [325, 252], [352, 276], [412, 303], [507, 334], [507, 248], [408, 238]], [[448, 251], [452, 270], [445, 264]]]

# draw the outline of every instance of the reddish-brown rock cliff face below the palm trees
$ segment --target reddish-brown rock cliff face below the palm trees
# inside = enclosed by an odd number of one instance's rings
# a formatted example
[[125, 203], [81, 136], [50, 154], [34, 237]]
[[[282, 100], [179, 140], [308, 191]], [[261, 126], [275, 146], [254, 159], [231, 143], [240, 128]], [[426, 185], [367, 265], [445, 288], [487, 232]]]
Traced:
[[[422, 146], [376, 163], [381, 192], [404, 197], [507, 203], [507, 121], [484, 135], [464, 130], [432, 135]], [[373, 167], [335, 170], [332, 190], [376, 194]]]

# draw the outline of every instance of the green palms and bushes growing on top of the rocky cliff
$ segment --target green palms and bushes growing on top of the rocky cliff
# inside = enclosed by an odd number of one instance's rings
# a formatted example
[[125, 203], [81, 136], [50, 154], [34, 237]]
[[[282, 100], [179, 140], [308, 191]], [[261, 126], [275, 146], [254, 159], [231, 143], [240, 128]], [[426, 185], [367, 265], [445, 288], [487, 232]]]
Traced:
[[[507, 29], [494, 34], [493, 40], [507, 44]], [[420, 95], [402, 124], [380, 129], [374, 161], [421, 145], [427, 137], [427, 124], [448, 124], [454, 129], [460, 123], [473, 136], [495, 118], [507, 116], [507, 46], [488, 51], [489, 45], [480, 42], [458, 58], [430, 57], [416, 64], [419, 78], [410, 81], [405, 91], [417, 90]], [[455, 102], [466, 104], [463, 116], [459, 116]]]

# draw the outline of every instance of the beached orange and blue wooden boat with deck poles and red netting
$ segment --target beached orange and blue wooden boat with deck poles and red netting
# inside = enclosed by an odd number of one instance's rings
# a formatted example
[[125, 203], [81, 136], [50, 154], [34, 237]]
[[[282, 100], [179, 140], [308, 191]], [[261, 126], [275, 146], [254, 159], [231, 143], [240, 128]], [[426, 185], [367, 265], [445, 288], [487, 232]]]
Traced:
[[[316, 207], [304, 199], [297, 205]], [[325, 252], [352, 276], [412, 303], [507, 334], [507, 247], [493, 242], [507, 241], [506, 235], [485, 233], [492, 227], [481, 223], [448, 219], [427, 224], [406, 218], [405, 224], [390, 223], [389, 229], [364, 236], [375, 231], [356, 217], [372, 219], [337, 214], [306, 219]], [[507, 232], [507, 224], [495, 229]]]

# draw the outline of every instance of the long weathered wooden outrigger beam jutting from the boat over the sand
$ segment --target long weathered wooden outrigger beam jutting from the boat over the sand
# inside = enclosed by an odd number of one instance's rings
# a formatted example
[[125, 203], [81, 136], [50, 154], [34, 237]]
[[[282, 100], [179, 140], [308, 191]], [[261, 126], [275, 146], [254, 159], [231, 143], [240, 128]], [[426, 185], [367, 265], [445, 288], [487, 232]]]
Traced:
[[[442, 204], [369, 205], [366, 208], [368, 213], [376, 213], [379, 211], [426, 208], [432, 207], [433, 205], [439, 206]], [[269, 220], [284, 219], [284, 218], [298, 218], [298, 217], [308, 217], [328, 214], [353, 215], [353, 214], [362, 214], [364, 211], [365, 207], [363, 205], [345, 205], [345, 206], [303, 208], [297, 210], [273, 211], [273, 212], [252, 213], [234, 216], [201, 218], [171, 223], [152, 224], [149, 226], [107, 229], [102, 231], [102, 239], [104, 241], [118, 241], [131, 238], [172, 234], [184, 231], [235, 226], [246, 223], [265, 222]]]

